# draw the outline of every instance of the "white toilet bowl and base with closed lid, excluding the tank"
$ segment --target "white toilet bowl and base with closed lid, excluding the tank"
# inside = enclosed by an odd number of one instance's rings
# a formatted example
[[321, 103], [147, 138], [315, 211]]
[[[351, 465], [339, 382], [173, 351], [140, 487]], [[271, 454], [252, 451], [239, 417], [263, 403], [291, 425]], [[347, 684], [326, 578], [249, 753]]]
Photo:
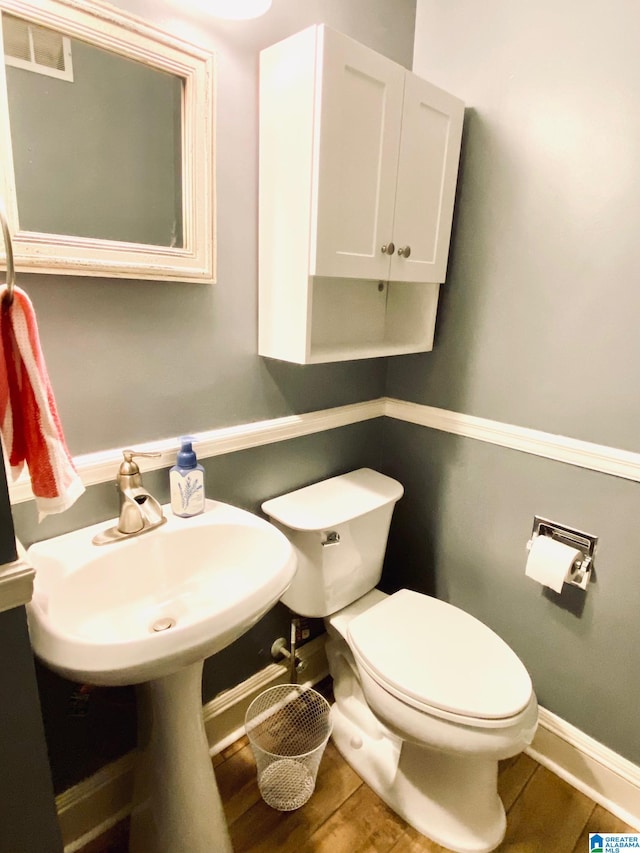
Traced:
[[[394, 617], [408, 598], [407, 621], [398, 631]], [[418, 611], [423, 619], [415, 622]], [[458, 660], [453, 668], [451, 656], [439, 655], [443, 612], [454, 621], [464, 617], [465, 639], [476, 650], [485, 646], [484, 657], [470, 648], [468, 662]], [[392, 596], [374, 590], [325, 624], [336, 696], [333, 737], [342, 755], [418, 832], [460, 853], [495, 849], [506, 830], [498, 761], [521, 752], [537, 726], [537, 702], [522, 663], [477, 619], [408, 590]], [[430, 634], [432, 642], [425, 643]], [[395, 647], [401, 642], [406, 648], [399, 664]], [[421, 667], [430, 653], [438, 656], [437, 675]], [[489, 689], [499, 684], [498, 673], [507, 694], [500, 699]], [[487, 691], [474, 695], [483, 676]]]

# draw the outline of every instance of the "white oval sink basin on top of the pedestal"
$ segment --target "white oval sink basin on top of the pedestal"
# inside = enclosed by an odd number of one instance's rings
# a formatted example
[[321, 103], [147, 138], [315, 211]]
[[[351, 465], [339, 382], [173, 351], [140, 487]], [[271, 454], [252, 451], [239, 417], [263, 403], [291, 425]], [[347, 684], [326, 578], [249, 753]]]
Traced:
[[258, 516], [214, 501], [192, 518], [165, 515], [102, 547], [91, 539], [109, 522], [29, 548], [29, 631], [49, 667], [92, 684], [160, 678], [229, 645], [291, 582], [291, 545]]

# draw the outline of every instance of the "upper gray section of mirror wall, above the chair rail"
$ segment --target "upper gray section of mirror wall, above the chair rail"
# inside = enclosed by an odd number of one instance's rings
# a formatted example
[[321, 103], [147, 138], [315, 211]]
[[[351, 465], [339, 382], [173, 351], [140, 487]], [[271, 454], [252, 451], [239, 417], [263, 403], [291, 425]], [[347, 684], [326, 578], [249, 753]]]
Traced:
[[179, 0], [115, 5], [216, 53], [219, 281], [21, 278], [72, 453], [380, 396], [383, 359], [299, 367], [256, 354], [258, 52], [325, 21], [410, 66], [415, 0], [275, 0], [242, 23]]

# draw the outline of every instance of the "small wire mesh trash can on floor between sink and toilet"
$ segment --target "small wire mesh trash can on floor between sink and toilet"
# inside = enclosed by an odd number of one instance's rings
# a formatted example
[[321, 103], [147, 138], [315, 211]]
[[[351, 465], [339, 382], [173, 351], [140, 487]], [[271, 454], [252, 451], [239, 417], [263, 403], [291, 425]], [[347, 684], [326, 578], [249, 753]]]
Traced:
[[316, 690], [298, 684], [270, 687], [249, 705], [245, 729], [267, 805], [293, 811], [313, 794], [331, 735], [330, 711]]

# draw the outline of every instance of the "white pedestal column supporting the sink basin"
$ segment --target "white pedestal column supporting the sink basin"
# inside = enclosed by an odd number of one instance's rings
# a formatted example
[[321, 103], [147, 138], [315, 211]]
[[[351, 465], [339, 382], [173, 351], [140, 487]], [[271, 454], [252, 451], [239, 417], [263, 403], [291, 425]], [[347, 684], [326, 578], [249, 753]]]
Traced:
[[131, 853], [232, 853], [202, 720], [203, 663], [138, 687]]

